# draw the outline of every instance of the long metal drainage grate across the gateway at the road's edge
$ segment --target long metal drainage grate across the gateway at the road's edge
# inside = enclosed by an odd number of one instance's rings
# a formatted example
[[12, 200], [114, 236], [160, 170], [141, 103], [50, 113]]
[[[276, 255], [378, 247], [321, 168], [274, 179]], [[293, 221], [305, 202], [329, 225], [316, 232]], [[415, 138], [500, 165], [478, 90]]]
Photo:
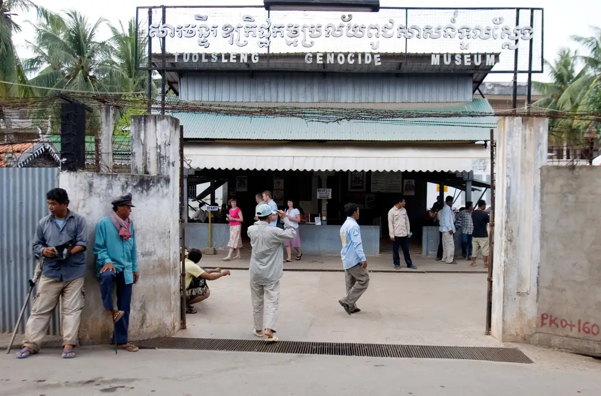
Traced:
[[517, 348], [448, 347], [436, 345], [347, 344], [338, 342], [161, 337], [136, 342], [145, 349], [186, 349], [203, 351], [326, 354], [334, 356], [397, 357], [417, 359], [486, 360], [531, 364]]

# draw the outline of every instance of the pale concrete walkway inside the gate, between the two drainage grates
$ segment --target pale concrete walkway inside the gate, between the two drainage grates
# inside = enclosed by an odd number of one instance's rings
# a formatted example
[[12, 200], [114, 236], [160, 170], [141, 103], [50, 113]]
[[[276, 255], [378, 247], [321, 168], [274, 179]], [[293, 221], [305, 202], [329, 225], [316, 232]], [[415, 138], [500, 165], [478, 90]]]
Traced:
[[[204, 260], [204, 259], [203, 259]], [[211, 295], [187, 315], [178, 336], [254, 339], [248, 271], [210, 282]], [[289, 341], [370, 342], [498, 347], [484, 336], [486, 275], [371, 274], [349, 316], [338, 304], [343, 273], [285, 272], [278, 336]]]

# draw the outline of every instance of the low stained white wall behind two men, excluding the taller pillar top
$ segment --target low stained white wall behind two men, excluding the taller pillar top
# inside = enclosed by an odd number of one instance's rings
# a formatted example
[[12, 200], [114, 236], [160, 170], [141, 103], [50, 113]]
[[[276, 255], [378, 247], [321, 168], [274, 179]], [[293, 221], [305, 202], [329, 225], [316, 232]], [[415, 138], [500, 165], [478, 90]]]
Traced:
[[[140, 280], [133, 286], [130, 338], [171, 336], [179, 329], [179, 263], [172, 258], [170, 182], [165, 176], [61, 173], [61, 187], [71, 199], [70, 208], [88, 221], [85, 308], [79, 327], [81, 344], [104, 344], [113, 326], [100, 299], [93, 255], [94, 227], [112, 210], [111, 200], [132, 193], [132, 220], [136, 232]], [[177, 218], [175, 218], [177, 221]]]

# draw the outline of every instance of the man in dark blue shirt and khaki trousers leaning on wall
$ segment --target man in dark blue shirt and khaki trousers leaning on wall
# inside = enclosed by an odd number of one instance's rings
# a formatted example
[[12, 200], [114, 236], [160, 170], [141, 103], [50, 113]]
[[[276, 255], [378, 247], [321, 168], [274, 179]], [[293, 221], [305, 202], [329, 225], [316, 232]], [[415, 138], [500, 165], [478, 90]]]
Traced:
[[61, 297], [63, 357], [75, 357], [73, 348], [84, 308], [84, 252], [88, 230], [85, 219], [67, 208], [69, 196], [63, 188], [48, 191], [46, 202], [50, 214], [40, 220], [33, 241], [35, 255], [43, 258], [41, 277], [17, 359], [38, 353], [52, 311]]

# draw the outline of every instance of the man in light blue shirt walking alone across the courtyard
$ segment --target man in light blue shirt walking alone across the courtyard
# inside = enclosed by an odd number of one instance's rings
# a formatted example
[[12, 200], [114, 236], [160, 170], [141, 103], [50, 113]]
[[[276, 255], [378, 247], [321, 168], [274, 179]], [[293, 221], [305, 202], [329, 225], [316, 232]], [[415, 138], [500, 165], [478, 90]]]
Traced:
[[338, 303], [350, 315], [361, 311], [357, 308], [356, 303], [370, 284], [370, 274], [365, 269], [367, 268], [367, 259], [365, 253], [363, 253], [361, 229], [357, 224], [359, 208], [355, 203], [347, 203], [344, 205], [344, 214], [347, 217], [340, 228], [340, 240], [342, 242], [340, 256], [346, 278], [346, 297], [338, 300]]

